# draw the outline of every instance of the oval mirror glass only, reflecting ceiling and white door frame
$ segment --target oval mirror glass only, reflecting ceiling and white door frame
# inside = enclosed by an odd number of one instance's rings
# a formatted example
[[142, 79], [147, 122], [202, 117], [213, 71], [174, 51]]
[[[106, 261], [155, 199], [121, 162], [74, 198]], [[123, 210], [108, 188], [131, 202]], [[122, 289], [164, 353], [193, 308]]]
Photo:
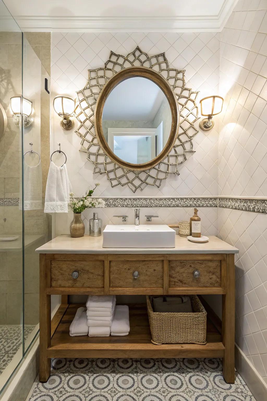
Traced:
[[111, 151], [128, 163], [143, 164], [159, 155], [167, 144], [171, 125], [167, 97], [147, 78], [120, 82], [104, 104], [104, 138]]

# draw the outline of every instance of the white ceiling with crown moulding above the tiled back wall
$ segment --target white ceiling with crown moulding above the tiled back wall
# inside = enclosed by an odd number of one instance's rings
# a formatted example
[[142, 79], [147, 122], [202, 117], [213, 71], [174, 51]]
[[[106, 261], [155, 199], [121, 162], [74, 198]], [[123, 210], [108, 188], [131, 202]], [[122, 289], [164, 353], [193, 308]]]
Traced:
[[236, 0], [4, 0], [24, 30], [220, 30]]

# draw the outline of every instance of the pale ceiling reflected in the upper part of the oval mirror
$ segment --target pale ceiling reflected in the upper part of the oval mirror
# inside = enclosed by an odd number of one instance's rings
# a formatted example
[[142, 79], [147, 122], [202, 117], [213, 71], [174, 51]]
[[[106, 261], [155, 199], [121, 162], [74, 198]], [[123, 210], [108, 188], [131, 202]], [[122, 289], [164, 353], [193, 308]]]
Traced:
[[115, 121], [151, 121], [164, 97], [163, 91], [149, 79], [126, 79], [108, 95], [102, 118]]

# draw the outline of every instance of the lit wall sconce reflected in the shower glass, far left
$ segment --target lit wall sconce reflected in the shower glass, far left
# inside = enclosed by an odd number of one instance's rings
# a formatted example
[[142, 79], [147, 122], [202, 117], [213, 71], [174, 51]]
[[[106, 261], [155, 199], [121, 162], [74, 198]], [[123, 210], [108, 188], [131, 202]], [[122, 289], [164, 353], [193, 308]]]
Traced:
[[9, 109], [10, 113], [13, 116], [14, 124], [16, 124], [16, 126], [18, 127], [20, 126], [21, 116], [23, 117], [24, 128], [29, 127], [32, 124], [33, 122], [32, 102], [29, 99], [26, 99], [26, 97], [22, 96], [10, 97]]

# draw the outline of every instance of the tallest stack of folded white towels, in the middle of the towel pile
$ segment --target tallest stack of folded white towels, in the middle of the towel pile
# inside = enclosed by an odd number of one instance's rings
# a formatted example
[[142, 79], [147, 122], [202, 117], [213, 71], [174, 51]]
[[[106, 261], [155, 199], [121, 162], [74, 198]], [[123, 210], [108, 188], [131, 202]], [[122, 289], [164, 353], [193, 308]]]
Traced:
[[108, 337], [113, 320], [116, 297], [113, 295], [89, 295], [86, 302], [89, 337]]

